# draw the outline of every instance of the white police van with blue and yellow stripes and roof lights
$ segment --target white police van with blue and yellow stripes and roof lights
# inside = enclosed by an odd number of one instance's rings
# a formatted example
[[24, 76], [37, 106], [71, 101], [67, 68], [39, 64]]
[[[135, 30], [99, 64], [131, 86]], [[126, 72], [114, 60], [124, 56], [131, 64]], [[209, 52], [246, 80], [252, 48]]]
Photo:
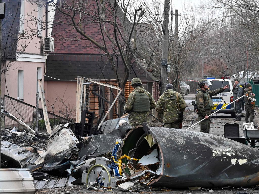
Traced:
[[[228, 105], [230, 102], [234, 101], [234, 94], [232, 92], [232, 89], [234, 87], [234, 81], [230, 79], [230, 77], [206, 77], [204, 79], [210, 80], [211, 86], [210, 90], [215, 90], [221, 87], [224, 87], [225, 85], [228, 85], [229, 88], [225, 89], [223, 92], [212, 96], [213, 101], [213, 109], [211, 110], [211, 113], [214, 111], [221, 109], [222, 107]], [[231, 105], [226, 106], [222, 110], [218, 111], [217, 113], [225, 113], [225, 114], [231, 114], [233, 118], [236, 117], [235, 114], [235, 103], [232, 103]]]

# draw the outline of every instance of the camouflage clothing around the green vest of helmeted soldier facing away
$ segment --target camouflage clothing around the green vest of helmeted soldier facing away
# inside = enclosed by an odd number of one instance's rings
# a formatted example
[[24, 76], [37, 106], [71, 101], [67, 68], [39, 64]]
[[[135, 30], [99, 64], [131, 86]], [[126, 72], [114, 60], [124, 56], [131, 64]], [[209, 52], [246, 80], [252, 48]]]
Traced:
[[[145, 88], [143, 88], [143, 86], [138, 86], [134, 89], [134, 91], [136, 92], [140, 92], [140, 93], [146, 93], [148, 95], [149, 98], [149, 102], [150, 102], [150, 109], [153, 109], [156, 107], [156, 102], [154, 100], [154, 98], [152, 97], [152, 95], [145, 90]], [[124, 110], [128, 113], [130, 113], [129, 115], [129, 123], [130, 124], [142, 124], [143, 122], [148, 122], [148, 114], [149, 111], [145, 111], [145, 112], [133, 112], [132, 107], [134, 104], [134, 101], [136, 99], [136, 95], [135, 92], [131, 92], [128, 99], [127, 99], [127, 103], [124, 106]]]

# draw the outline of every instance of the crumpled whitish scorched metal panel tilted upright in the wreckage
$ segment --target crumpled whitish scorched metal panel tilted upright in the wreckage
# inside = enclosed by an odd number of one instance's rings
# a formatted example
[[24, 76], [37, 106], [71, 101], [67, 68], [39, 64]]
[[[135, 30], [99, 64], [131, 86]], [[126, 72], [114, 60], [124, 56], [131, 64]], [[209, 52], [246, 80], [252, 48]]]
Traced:
[[41, 153], [35, 164], [48, 161], [51, 166], [64, 163], [63, 159], [69, 158], [78, 151], [76, 144], [79, 143], [69, 124], [57, 125], [49, 136], [47, 149]]

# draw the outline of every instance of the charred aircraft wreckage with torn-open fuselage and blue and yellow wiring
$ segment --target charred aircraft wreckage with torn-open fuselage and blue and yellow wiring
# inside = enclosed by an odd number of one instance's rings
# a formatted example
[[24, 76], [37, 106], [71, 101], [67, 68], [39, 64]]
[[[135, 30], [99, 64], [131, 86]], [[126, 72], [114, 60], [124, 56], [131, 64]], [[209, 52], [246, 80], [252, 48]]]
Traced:
[[[3, 158], [8, 148], [3, 150]], [[217, 188], [258, 185], [258, 156], [259, 150], [224, 137], [146, 125], [132, 130], [128, 123], [120, 121], [117, 129], [88, 136], [81, 142], [69, 124], [60, 124], [52, 131], [47, 150], [30, 157], [35, 165], [43, 165], [42, 170], [57, 170], [63, 176], [73, 176], [77, 183], [95, 188], [139, 183]], [[33, 166], [32, 160], [24, 166]]]

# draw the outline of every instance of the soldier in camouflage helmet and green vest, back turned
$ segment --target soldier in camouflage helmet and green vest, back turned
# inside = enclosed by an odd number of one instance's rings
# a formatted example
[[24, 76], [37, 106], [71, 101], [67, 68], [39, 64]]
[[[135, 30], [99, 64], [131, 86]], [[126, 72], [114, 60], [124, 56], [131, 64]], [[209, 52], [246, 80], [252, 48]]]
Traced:
[[129, 113], [130, 125], [142, 125], [149, 120], [149, 110], [156, 107], [156, 102], [152, 95], [144, 89], [139, 78], [131, 80], [134, 91], [130, 93], [124, 110]]

